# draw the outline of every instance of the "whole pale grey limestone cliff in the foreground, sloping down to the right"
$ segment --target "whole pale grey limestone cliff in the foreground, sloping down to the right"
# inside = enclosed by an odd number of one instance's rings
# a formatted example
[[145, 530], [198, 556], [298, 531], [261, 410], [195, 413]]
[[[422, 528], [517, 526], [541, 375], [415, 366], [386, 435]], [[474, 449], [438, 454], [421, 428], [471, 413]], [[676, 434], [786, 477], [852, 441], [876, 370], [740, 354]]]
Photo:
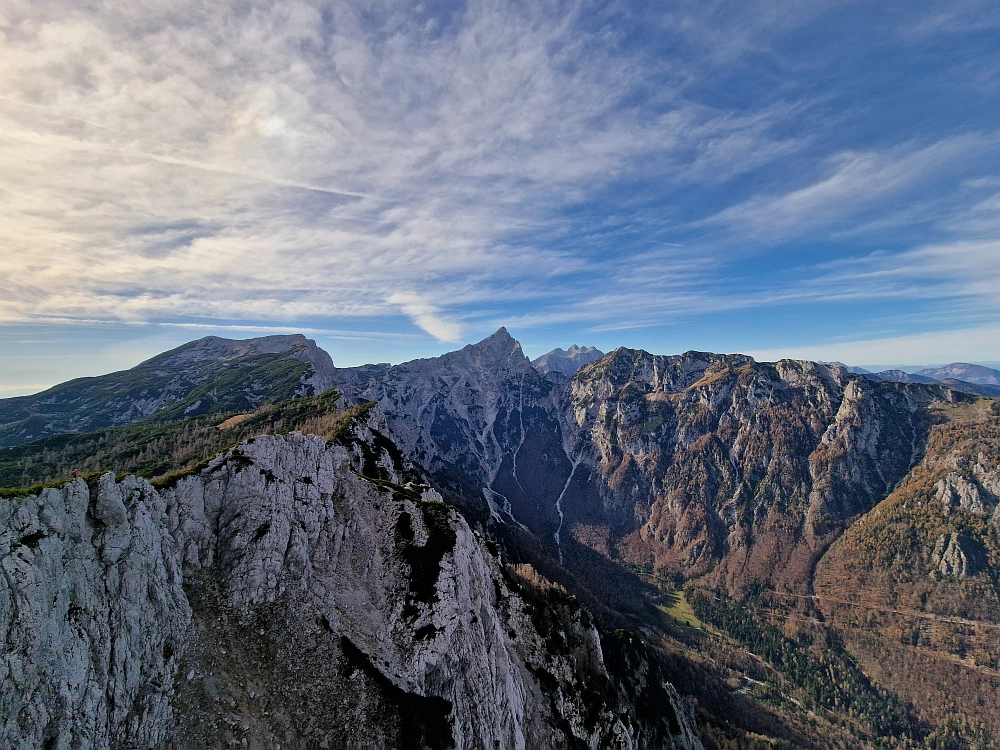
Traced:
[[375, 420], [0, 501], [2, 744], [700, 747], [676, 691], [616, 676], [635, 648], [609, 668]]

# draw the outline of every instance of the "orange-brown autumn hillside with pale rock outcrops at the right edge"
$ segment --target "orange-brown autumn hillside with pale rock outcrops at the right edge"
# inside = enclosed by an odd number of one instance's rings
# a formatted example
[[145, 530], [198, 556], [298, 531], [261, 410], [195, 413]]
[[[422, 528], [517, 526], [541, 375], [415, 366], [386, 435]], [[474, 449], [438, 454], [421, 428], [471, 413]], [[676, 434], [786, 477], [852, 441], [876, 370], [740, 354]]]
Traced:
[[[874, 679], [978, 746], [1000, 737], [1000, 402], [940, 406], [920, 464], [817, 567]], [[992, 738], [992, 739], [991, 739]]]

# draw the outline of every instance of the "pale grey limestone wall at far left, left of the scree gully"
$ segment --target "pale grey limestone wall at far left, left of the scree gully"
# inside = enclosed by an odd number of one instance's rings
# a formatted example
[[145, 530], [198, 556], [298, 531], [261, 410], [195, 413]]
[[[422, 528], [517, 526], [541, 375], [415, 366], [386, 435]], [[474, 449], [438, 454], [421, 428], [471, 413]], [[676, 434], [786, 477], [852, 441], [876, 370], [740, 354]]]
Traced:
[[0, 746], [159, 746], [191, 610], [156, 491], [0, 499], [0, 567]]

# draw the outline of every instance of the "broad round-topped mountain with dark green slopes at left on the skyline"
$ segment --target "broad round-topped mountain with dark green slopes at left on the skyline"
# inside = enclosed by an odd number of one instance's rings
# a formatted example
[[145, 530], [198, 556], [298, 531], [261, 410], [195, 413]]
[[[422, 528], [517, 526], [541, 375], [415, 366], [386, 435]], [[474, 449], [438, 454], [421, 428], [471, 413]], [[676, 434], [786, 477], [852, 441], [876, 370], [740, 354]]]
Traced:
[[131, 370], [78, 378], [33, 396], [0, 399], [0, 446], [152, 418], [253, 411], [321, 393], [333, 361], [300, 334], [233, 341], [216, 336], [157, 355]]

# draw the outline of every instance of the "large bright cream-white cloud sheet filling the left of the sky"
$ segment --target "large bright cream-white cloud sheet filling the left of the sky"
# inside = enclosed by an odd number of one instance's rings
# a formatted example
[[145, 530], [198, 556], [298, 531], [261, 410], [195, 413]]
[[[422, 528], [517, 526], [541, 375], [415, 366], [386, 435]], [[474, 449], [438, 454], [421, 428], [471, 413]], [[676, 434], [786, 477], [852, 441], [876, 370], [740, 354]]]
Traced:
[[0, 321], [391, 316], [405, 280], [454, 337], [463, 301], [594, 270], [511, 235], [651, 158], [721, 179], [787, 148], [583, 12], [8, 3]]

